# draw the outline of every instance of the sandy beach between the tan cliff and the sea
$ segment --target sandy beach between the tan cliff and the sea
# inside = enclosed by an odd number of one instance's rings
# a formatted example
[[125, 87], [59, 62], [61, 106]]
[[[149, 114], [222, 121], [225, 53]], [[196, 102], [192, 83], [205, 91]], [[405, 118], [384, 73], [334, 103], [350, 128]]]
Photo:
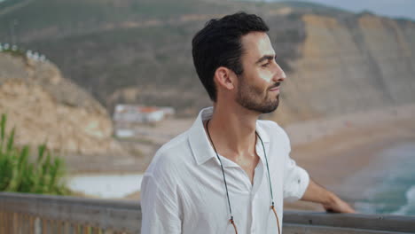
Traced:
[[[354, 205], [361, 192], [372, 186], [371, 170], [375, 173], [388, 167], [387, 161], [381, 159], [381, 152], [397, 144], [415, 144], [414, 110], [413, 105], [395, 107], [394, 112], [385, 110], [380, 118], [372, 119], [373, 114], [382, 113], [376, 111], [360, 119], [355, 116], [354, 123], [348, 125], [344, 125], [344, 119], [341, 119], [331, 134], [315, 137], [307, 143], [298, 140], [297, 136], [297, 144], [292, 144], [291, 157], [308, 170], [317, 183]], [[391, 115], [395, 117], [391, 118]], [[332, 126], [336, 126], [333, 121]], [[317, 129], [316, 125], [311, 127]], [[291, 132], [290, 127], [286, 129], [290, 138], [294, 136], [295, 142], [301, 128]], [[372, 167], [374, 163], [378, 167]], [[285, 203], [285, 209], [324, 211], [320, 205], [303, 201]]]

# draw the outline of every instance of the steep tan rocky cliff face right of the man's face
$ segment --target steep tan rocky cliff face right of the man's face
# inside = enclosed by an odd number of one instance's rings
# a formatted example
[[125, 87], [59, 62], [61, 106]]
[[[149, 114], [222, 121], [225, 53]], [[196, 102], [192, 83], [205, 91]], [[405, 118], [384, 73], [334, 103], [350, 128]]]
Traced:
[[[305, 40], [283, 86], [282, 122], [415, 102], [415, 23], [304, 14]], [[275, 44], [278, 48], [278, 44]]]

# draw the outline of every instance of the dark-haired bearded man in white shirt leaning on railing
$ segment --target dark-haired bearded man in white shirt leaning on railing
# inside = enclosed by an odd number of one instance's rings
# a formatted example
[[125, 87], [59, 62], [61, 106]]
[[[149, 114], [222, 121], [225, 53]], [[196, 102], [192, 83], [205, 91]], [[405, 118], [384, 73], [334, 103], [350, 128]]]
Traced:
[[273, 121], [286, 74], [261, 18], [210, 20], [192, 40], [194, 66], [214, 102], [164, 144], [143, 179], [142, 233], [280, 233], [283, 199], [354, 212], [289, 157]]

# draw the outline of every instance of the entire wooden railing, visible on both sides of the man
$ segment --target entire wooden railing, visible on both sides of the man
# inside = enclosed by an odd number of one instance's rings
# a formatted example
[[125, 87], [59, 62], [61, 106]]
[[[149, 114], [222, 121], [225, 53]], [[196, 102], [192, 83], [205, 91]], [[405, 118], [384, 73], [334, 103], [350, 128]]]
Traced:
[[[140, 233], [138, 202], [0, 192], [0, 234]], [[415, 216], [284, 213], [284, 234], [415, 233]]]

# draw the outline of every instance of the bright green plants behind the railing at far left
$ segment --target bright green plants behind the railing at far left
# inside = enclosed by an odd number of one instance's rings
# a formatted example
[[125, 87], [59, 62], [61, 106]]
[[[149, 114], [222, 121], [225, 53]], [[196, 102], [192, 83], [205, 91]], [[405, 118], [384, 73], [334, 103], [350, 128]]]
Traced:
[[53, 195], [67, 195], [69, 190], [63, 181], [64, 161], [53, 157], [41, 144], [37, 159], [29, 161], [29, 147], [14, 144], [15, 129], [5, 132], [6, 115], [0, 122], [0, 191], [30, 192]]

